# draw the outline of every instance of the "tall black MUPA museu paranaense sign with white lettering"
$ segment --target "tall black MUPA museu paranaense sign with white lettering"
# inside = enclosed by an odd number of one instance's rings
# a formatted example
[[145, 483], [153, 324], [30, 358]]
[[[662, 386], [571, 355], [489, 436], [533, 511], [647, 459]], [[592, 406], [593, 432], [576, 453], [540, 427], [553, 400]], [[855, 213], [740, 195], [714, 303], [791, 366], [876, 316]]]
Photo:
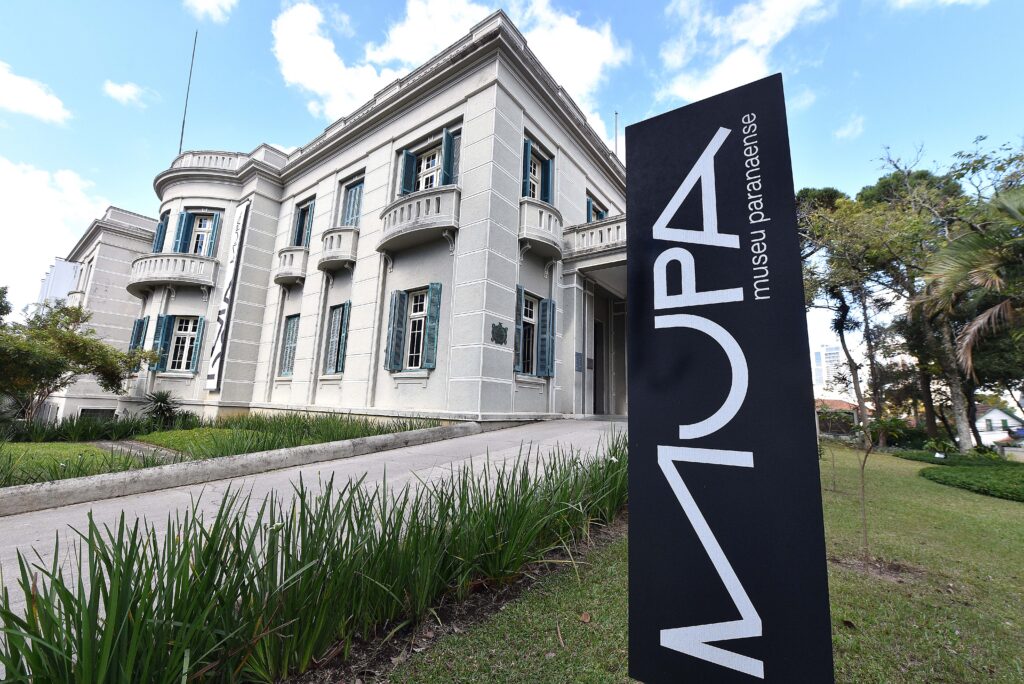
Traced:
[[630, 675], [831, 682], [782, 78], [626, 140]]

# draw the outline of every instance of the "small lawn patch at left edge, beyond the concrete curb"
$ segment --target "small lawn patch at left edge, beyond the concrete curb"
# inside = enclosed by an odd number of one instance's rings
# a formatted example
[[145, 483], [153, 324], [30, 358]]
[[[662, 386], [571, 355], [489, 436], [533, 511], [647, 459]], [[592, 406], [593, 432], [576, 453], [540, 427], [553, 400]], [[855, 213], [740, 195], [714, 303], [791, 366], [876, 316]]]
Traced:
[[0, 446], [0, 487], [140, 467], [131, 456], [82, 442], [7, 442]]

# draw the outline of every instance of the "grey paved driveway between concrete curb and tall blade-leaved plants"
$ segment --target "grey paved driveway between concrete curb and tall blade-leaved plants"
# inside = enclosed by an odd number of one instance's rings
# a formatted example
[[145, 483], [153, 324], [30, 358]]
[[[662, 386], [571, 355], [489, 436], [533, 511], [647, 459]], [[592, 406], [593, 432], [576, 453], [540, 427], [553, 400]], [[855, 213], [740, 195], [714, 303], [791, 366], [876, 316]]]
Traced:
[[[236, 480], [207, 482], [8, 516], [0, 518], [0, 568], [3, 568], [4, 584], [11, 589], [12, 603], [20, 608], [20, 591], [15, 589], [17, 551], [31, 553], [35, 548], [44, 561], [48, 562], [52, 559], [53, 541], [58, 536], [61, 540], [61, 555], [66, 556], [63, 560], [67, 563], [71, 555], [70, 542], [77, 539], [73, 528], [86, 528], [90, 510], [99, 525], [114, 526], [124, 511], [129, 521], [135, 518], [146, 519], [162, 532], [169, 514], [188, 509], [194, 499], [201, 495], [202, 508], [212, 511], [228, 487], [251, 491], [254, 502], [262, 501], [271, 491], [291, 493], [292, 484], [299, 481], [300, 475], [308, 484], [315, 483], [317, 478], [326, 480], [334, 476], [335, 482], [343, 482], [362, 475], [366, 475], [368, 482], [374, 482], [383, 480], [386, 473], [389, 486], [400, 487], [409, 481], [443, 477], [453, 465], [470, 459], [474, 459], [474, 464], [479, 467], [485, 457], [489, 458], [490, 463], [497, 463], [515, 459], [530, 447], [535, 454], [538, 450], [542, 454], [548, 454], [556, 445], [593, 453], [607, 440], [612, 430], [624, 431], [625, 428], [625, 422], [546, 421], [380, 454], [274, 470]], [[0, 496], [3, 496], [2, 489]]]

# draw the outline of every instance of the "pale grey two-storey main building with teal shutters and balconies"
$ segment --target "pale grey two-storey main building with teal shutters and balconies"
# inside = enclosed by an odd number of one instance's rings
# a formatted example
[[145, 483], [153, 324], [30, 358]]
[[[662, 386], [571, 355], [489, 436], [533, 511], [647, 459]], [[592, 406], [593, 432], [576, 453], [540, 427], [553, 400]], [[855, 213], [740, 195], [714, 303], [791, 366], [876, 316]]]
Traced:
[[626, 411], [625, 168], [503, 12], [290, 155], [154, 186], [120, 411]]

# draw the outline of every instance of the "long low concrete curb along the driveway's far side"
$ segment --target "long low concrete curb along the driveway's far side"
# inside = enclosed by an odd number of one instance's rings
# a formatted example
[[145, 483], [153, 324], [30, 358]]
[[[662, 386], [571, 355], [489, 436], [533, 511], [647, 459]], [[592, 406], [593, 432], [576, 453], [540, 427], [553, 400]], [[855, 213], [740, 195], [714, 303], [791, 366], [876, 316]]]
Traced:
[[122, 473], [4, 487], [0, 489], [0, 517], [31, 513], [47, 508], [85, 504], [103, 499], [128, 497], [159, 489], [247, 477], [270, 470], [305, 466], [323, 461], [350, 459], [355, 456], [387, 452], [402, 446], [416, 446], [442, 439], [467, 437], [512, 425], [518, 425], [518, 423], [484, 425], [459, 423], [324, 444], [224, 456], [205, 461], [187, 461]]

